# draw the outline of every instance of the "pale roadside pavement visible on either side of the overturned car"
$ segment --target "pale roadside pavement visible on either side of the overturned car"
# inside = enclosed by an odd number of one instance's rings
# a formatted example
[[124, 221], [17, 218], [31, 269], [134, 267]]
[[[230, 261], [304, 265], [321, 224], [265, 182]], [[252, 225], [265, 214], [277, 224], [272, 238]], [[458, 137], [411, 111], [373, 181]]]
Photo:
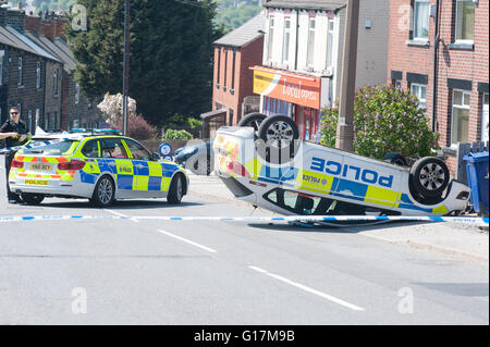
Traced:
[[[201, 197], [228, 201], [236, 206], [250, 205], [237, 200], [226, 189], [221, 179], [212, 173], [209, 176], [198, 176], [189, 173], [191, 190]], [[273, 214], [262, 209], [264, 213]], [[468, 216], [477, 216], [471, 214]], [[391, 244], [402, 244], [408, 247], [433, 250], [457, 259], [489, 263], [489, 231], [475, 225], [462, 223], [390, 223], [385, 227], [357, 226], [350, 232], [367, 237], [381, 239]]]

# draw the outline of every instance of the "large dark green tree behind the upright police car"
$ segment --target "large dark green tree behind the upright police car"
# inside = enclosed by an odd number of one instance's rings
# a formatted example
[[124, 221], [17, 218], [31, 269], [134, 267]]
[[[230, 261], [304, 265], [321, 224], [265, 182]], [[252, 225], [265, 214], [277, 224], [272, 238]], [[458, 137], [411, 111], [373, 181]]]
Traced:
[[[68, 29], [77, 62], [76, 79], [89, 98], [122, 89], [123, 0], [78, 0], [87, 8], [88, 30]], [[162, 125], [179, 113], [200, 114], [211, 107], [211, 0], [132, 0], [130, 95], [138, 113]]]

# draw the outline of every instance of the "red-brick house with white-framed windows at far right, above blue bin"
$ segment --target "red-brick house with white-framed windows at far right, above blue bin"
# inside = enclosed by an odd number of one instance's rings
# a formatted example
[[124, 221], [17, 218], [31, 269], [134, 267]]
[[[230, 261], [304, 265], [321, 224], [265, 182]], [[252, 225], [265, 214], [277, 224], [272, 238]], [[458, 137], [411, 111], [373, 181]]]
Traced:
[[488, 0], [390, 4], [388, 80], [419, 98], [452, 174], [457, 144], [488, 141]]

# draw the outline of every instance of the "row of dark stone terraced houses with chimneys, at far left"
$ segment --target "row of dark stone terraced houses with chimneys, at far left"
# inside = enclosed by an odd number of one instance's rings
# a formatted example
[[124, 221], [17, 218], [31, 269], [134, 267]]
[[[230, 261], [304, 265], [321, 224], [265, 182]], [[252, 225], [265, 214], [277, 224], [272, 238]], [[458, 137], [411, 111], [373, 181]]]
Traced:
[[0, 7], [0, 122], [17, 106], [30, 132], [106, 126], [74, 80], [76, 63], [62, 37], [66, 23]]

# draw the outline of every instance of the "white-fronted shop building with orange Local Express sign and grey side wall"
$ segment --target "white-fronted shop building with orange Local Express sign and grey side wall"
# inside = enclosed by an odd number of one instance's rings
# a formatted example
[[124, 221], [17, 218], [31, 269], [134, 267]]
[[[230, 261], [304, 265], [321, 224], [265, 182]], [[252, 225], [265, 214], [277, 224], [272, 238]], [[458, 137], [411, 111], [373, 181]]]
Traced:
[[[360, 1], [356, 87], [384, 84], [389, 0]], [[254, 92], [262, 113], [291, 116], [318, 140], [320, 112], [340, 97], [346, 0], [271, 0]], [[305, 98], [304, 96], [308, 96]]]

